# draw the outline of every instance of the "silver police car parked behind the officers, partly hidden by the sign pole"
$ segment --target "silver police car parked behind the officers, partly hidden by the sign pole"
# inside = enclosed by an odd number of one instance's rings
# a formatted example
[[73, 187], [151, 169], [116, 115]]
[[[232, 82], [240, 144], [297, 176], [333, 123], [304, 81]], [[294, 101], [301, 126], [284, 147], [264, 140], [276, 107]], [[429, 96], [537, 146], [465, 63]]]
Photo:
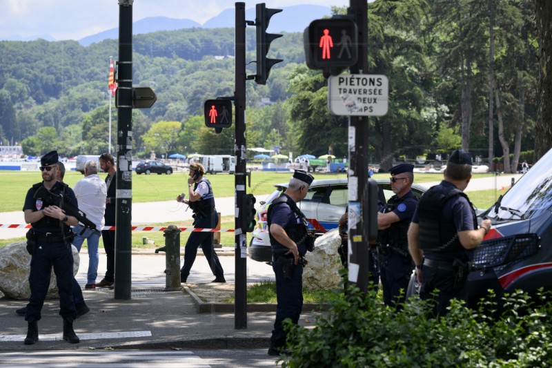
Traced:
[[[386, 179], [376, 179], [380, 186], [380, 202], [384, 203], [393, 196], [391, 184]], [[266, 200], [259, 202], [257, 209], [257, 227], [252, 233], [249, 244], [249, 257], [258, 262], [270, 263], [272, 251], [266, 226], [266, 212], [270, 203], [279, 197], [287, 188], [288, 183], [275, 184], [276, 190]], [[421, 197], [427, 190], [420, 184], [413, 184], [412, 190]], [[319, 235], [337, 228], [337, 222], [345, 213], [348, 202], [348, 182], [346, 179], [314, 180], [304, 200], [299, 202], [299, 209], [305, 214], [309, 228], [315, 229]]]

